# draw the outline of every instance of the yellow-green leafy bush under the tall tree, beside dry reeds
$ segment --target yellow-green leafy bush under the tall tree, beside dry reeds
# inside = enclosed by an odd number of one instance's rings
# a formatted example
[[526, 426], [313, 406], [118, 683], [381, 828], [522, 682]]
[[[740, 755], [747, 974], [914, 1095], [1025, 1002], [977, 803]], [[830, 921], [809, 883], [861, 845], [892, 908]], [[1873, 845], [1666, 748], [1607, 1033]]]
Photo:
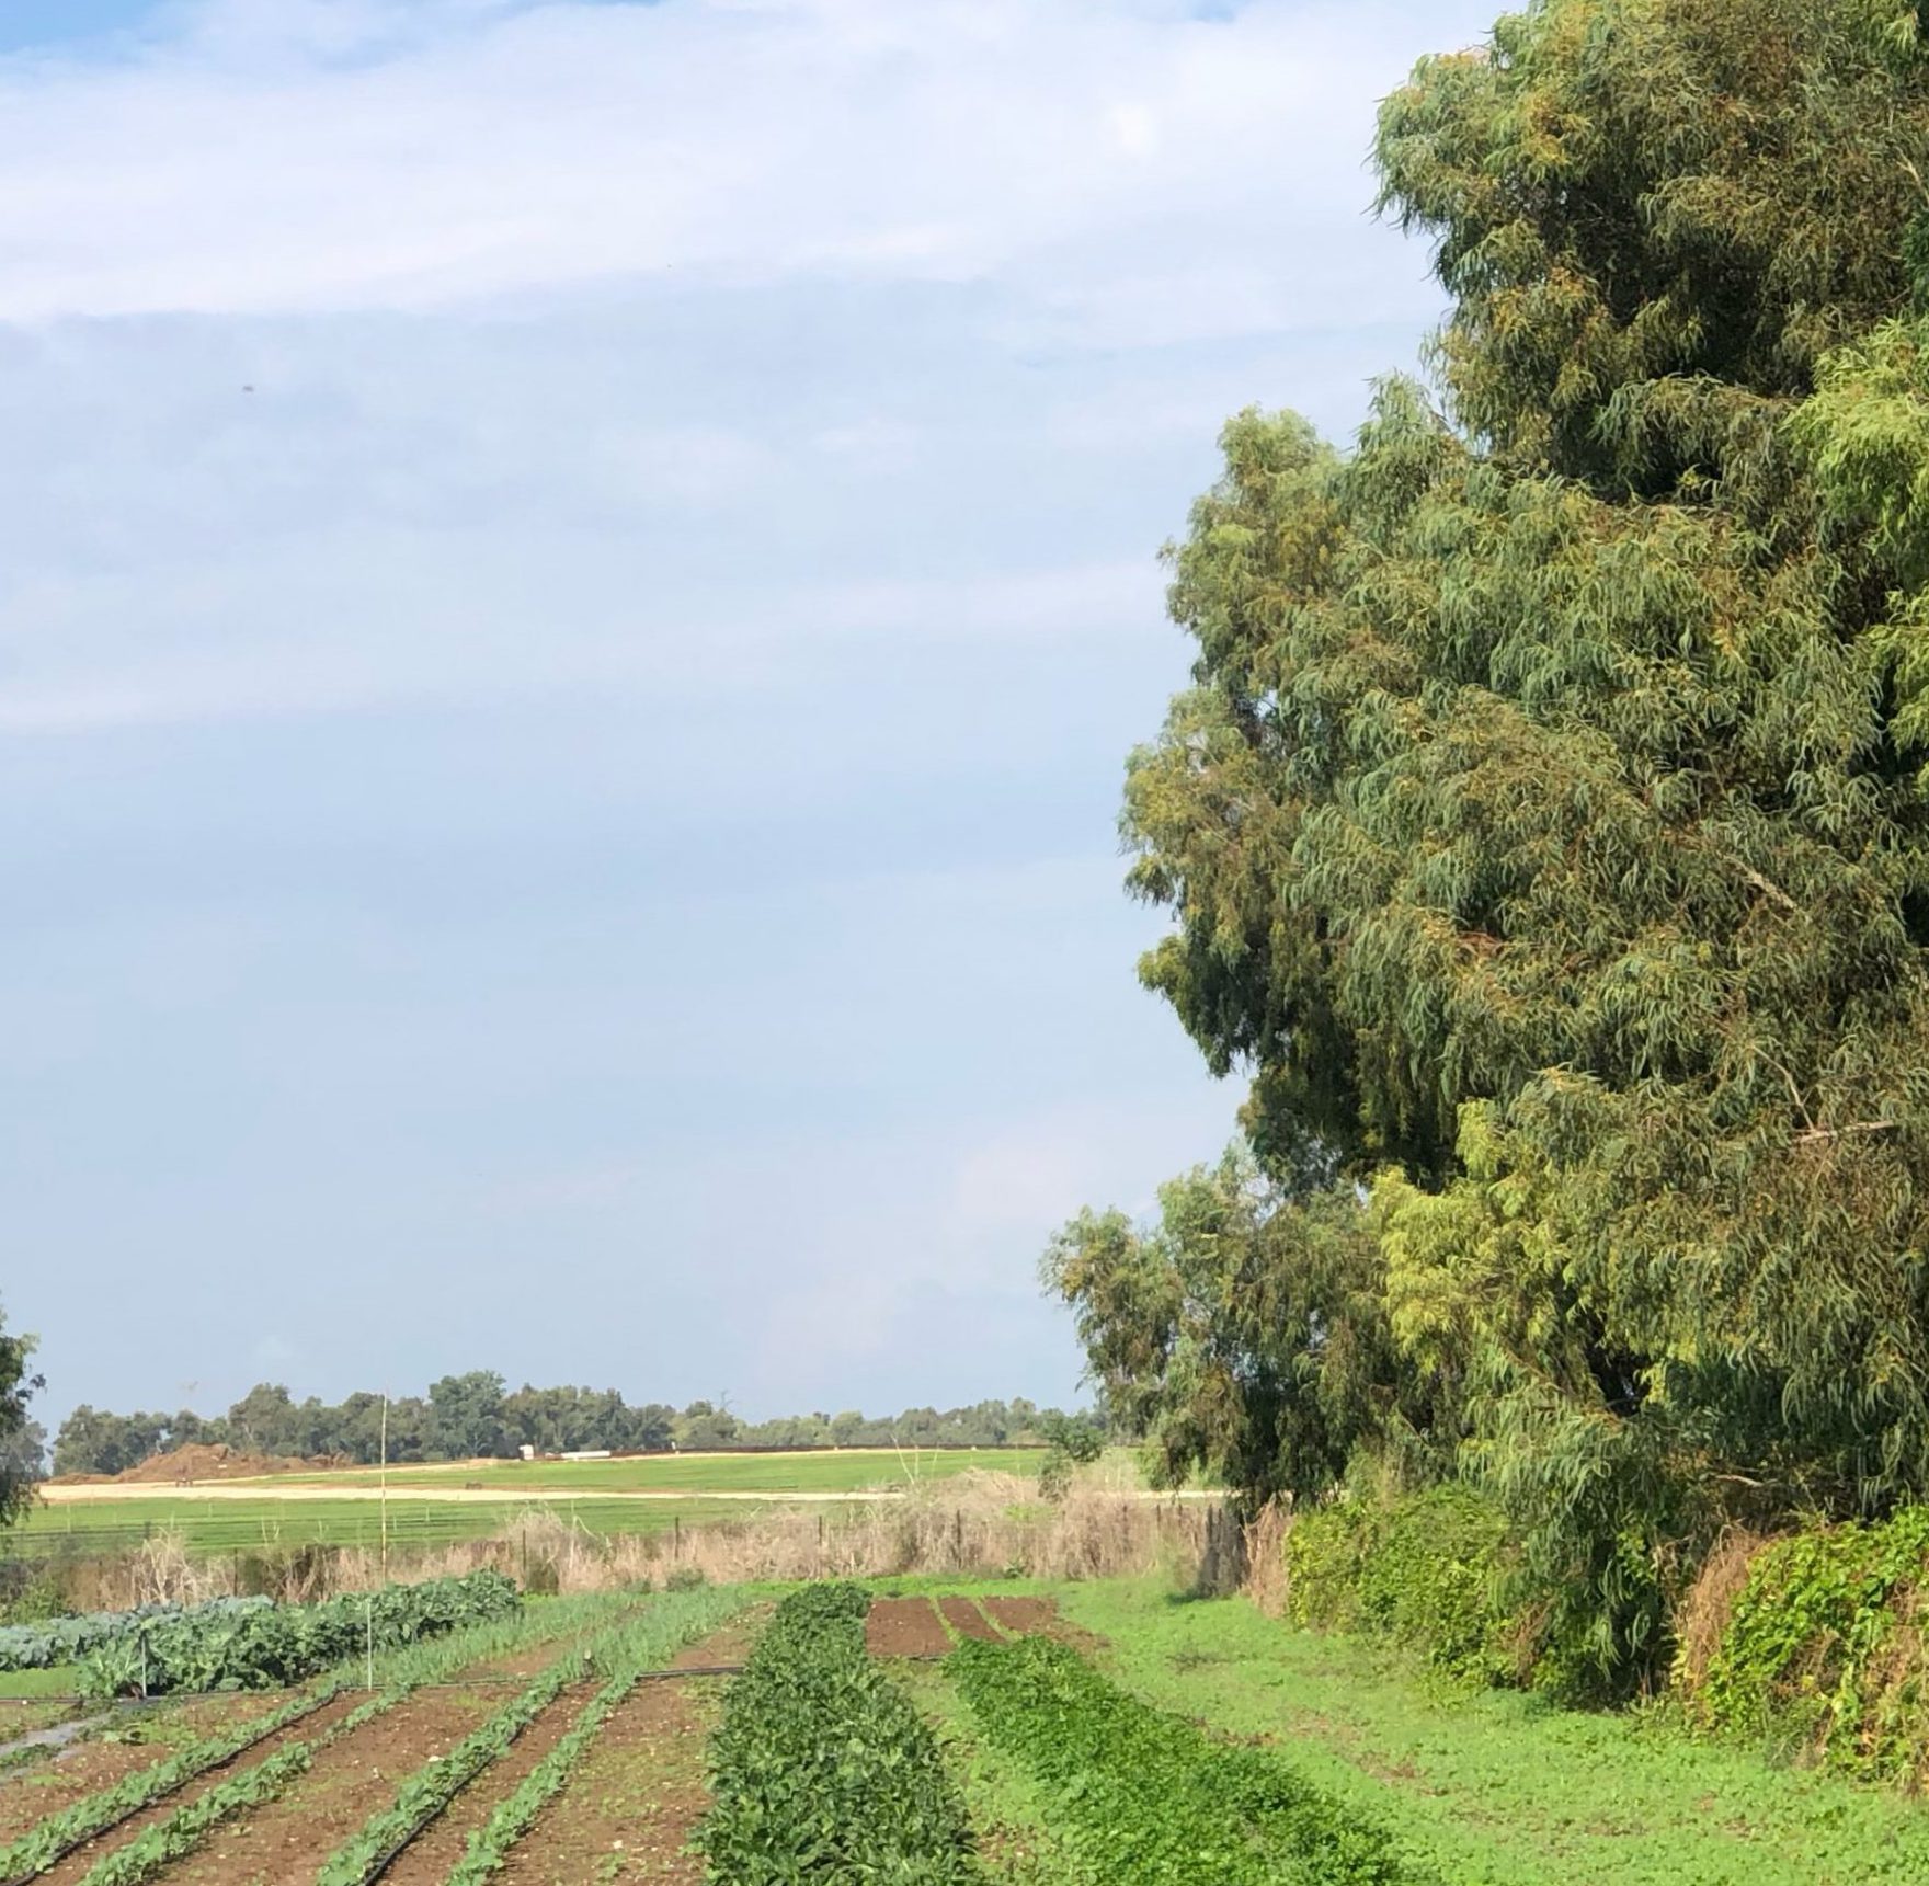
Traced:
[[1468, 1487], [1304, 1512], [1285, 1550], [1294, 1624], [1379, 1637], [1468, 1682], [1520, 1682], [1507, 1522]]

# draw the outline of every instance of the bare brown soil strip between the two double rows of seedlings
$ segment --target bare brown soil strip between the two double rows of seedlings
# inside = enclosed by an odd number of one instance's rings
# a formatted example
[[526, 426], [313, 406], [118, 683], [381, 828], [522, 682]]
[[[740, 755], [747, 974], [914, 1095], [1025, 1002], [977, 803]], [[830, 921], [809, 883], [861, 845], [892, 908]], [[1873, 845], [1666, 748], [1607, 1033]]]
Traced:
[[280, 1799], [214, 1828], [193, 1853], [158, 1874], [166, 1886], [291, 1886], [363, 1820], [395, 1797], [397, 1784], [446, 1755], [502, 1705], [500, 1693], [421, 1691], [322, 1749]]

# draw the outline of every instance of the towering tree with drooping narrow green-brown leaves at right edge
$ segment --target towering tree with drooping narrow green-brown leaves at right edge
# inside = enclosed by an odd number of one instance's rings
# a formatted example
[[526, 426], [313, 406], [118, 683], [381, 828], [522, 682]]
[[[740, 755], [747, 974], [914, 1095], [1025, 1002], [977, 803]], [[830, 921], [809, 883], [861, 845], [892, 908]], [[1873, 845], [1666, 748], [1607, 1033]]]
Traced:
[[[1225, 430], [1142, 976], [1275, 1182], [1370, 1201], [1381, 1398], [1628, 1670], [1725, 1522], [1929, 1493], [1929, 42], [1539, 0], [1375, 160], [1433, 376], [1345, 451]], [[1254, 1487], [1335, 1477], [1279, 1444]]]

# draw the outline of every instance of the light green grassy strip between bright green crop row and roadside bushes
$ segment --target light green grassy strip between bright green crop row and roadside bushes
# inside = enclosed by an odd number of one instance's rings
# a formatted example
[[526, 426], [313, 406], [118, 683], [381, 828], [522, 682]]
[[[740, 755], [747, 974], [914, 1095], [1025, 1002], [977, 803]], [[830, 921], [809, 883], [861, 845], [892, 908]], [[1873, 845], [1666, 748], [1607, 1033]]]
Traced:
[[1154, 1581], [1067, 1585], [1148, 1701], [1294, 1765], [1456, 1886], [1863, 1886], [1929, 1878], [1929, 1815], [1892, 1793], [1775, 1768], [1651, 1716], [1443, 1693], [1345, 1637], [1242, 1599], [1181, 1603]]

